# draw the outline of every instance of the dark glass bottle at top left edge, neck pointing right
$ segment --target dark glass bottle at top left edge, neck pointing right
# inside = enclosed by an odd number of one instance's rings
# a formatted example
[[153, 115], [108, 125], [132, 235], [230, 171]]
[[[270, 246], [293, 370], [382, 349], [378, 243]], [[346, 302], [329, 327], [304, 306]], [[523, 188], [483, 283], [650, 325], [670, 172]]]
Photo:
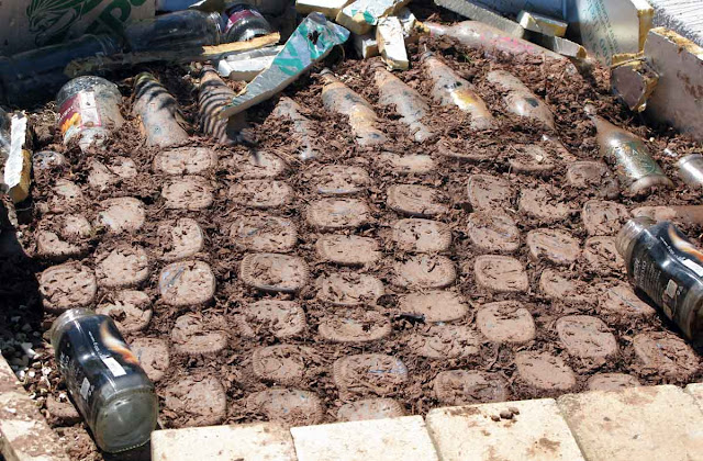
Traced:
[[[121, 43], [108, 35], [83, 35], [70, 42], [0, 57], [0, 87], [13, 104], [44, 102], [70, 78], [64, 74], [75, 60], [120, 53]], [[0, 91], [2, 93], [2, 91]]]

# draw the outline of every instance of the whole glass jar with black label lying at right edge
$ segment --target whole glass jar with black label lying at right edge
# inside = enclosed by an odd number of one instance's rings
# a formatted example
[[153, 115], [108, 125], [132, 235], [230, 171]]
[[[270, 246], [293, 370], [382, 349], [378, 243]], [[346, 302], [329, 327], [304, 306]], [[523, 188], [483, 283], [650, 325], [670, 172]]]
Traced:
[[640, 216], [617, 235], [617, 251], [633, 284], [703, 345], [703, 252], [673, 224]]

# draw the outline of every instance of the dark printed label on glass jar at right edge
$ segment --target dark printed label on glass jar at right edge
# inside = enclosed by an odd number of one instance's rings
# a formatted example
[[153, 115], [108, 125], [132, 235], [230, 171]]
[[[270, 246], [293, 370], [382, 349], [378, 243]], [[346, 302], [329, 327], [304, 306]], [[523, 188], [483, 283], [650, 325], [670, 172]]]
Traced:
[[692, 337], [696, 305], [684, 301], [692, 288], [703, 283], [703, 252], [671, 223], [644, 233], [633, 248], [628, 267], [635, 285], [662, 308], [667, 317]]

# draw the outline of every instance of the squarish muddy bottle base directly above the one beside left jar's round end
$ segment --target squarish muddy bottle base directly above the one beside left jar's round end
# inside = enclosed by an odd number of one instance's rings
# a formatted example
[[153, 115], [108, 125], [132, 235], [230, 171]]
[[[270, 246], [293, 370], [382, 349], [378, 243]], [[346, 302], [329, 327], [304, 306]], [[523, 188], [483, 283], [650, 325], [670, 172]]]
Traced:
[[227, 347], [226, 325], [219, 316], [183, 314], [171, 329], [171, 342], [176, 353], [187, 356], [214, 356]]

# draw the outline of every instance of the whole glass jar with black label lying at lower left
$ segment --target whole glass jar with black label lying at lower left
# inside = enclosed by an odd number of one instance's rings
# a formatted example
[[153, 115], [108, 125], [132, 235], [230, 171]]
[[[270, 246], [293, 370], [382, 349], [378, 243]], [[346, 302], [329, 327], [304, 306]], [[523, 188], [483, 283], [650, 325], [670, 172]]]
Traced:
[[112, 318], [72, 308], [49, 334], [62, 378], [98, 447], [116, 453], [146, 443], [158, 414], [154, 384]]

